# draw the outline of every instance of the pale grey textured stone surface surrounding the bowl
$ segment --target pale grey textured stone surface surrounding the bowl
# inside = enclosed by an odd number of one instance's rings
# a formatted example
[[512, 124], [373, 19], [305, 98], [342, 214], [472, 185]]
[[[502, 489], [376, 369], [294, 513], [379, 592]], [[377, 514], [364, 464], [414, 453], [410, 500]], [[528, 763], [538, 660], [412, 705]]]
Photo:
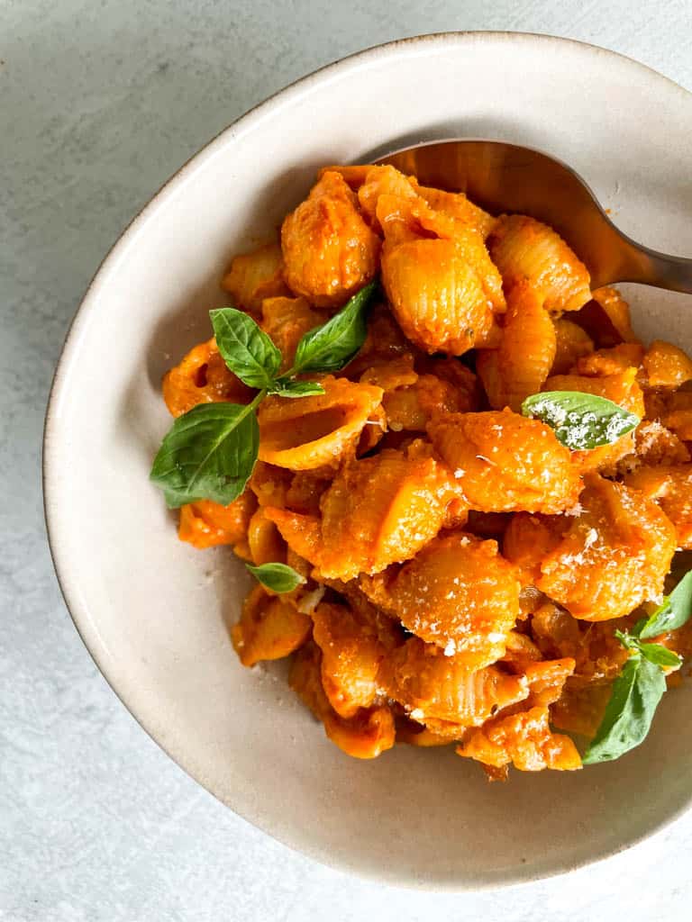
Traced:
[[292, 854], [137, 727], [79, 641], [46, 549], [40, 442], [54, 362], [127, 220], [294, 78], [377, 42], [471, 29], [592, 41], [692, 89], [690, 0], [0, 0], [4, 922], [689, 917], [692, 816], [567, 879], [479, 895], [390, 890]]

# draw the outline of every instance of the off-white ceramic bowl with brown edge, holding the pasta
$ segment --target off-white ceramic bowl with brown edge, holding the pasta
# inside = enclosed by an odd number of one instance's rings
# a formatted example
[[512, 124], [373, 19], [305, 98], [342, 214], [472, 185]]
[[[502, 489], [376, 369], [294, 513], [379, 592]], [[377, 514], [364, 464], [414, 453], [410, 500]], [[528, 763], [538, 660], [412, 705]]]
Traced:
[[[459, 33], [356, 54], [284, 89], [190, 160], [94, 278], [58, 366], [45, 436], [54, 561], [78, 631], [149, 734], [281, 842], [404, 885], [480, 888], [567, 871], [669, 822], [692, 795], [689, 688], [650, 739], [574, 774], [488, 785], [451, 751], [343, 755], [281, 679], [227, 635], [247, 583], [223, 550], [175, 536], [148, 481], [170, 419], [161, 374], [209, 336], [229, 257], [275, 228], [325, 163], [424, 139], [546, 150], [635, 239], [692, 253], [692, 96], [614, 53]], [[634, 290], [638, 328], [692, 339], [689, 299]]]

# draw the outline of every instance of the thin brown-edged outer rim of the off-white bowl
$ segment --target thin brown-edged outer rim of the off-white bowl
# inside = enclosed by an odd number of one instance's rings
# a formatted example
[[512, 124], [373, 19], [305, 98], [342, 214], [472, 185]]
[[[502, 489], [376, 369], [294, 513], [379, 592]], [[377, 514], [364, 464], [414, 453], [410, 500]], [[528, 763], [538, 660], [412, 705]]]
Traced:
[[290, 848], [294, 853], [309, 857], [318, 864], [339, 871], [342, 874], [354, 874], [361, 879], [376, 882], [380, 885], [385, 884], [405, 889], [437, 892], [485, 892], [501, 890], [509, 886], [531, 884], [537, 881], [561, 877], [572, 871], [602, 862], [609, 857], [614, 857], [626, 852], [635, 845], [650, 839], [654, 835], [662, 833], [662, 831], [668, 829], [674, 823], [679, 822], [692, 808], [692, 789], [690, 789], [689, 796], [683, 804], [666, 814], [661, 820], [653, 822], [648, 830], [636, 833], [631, 838], [628, 838], [622, 845], [613, 848], [603, 847], [600, 851], [595, 852], [589, 857], [575, 859], [569, 864], [555, 867], [555, 869], [549, 871], [535, 873], [527, 869], [527, 873], [522, 873], [519, 867], [510, 872], [506, 872], [505, 876], [498, 880], [476, 882], [452, 880], [426, 881], [402, 878], [396, 871], [378, 873], [376, 869], [366, 869], [363, 865], [356, 865], [348, 860], [332, 859], [331, 856], [323, 854], [317, 847], [313, 847], [310, 844], [298, 844], [286, 835], [280, 835], [268, 830], [268, 828], [265, 828], [264, 824], [256, 822], [254, 819], [246, 816], [244, 810], [237, 809], [234, 806], [231, 807], [229, 804], [222, 801], [221, 798], [218, 798], [213, 791], [209, 790], [209, 787], [206, 786], [204, 781], [197, 777], [197, 773], [188, 769], [183, 762], [173, 756], [167, 746], [154, 736], [153, 731], [149, 730], [149, 727], [145, 725], [143, 720], [139, 718], [133, 708], [127, 703], [125, 700], [125, 689], [120, 691], [116, 687], [115, 681], [111, 679], [109, 675], [110, 669], [100, 654], [98, 644], [91, 642], [89, 638], [89, 631], [93, 630], [93, 628], [90, 625], [89, 609], [78, 592], [77, 581], [74, 575], [70, 573], [70, 568], [67, 565], [62, 566], [59, 562], [60, 555], [55, 540], [57, 525], [56, 519], [54, 518], [53, 503], [51, 502], [53, 491], [56, 489], [56, 485], [53, 481], [54, 466], [52, 459], [56, 451], [56, 445], [59, 442], [59, 433], [57, 431], [59, 425], [58, 405], [64, 396], [66, 379], [68, 378], [68, 372], [75, 357], [78, 340], [86, 331], [90, 316], [96, 309], [101, 289], [107, 284], [108, 277], [117, 270], [119, 263], [124, 259], [129, 248], [137, 242], [138, 235], [144, 230], [149, 218], [155, 214], [163, 202], [174, 195], [178, 195], [193, 173], [203, 168], [209, 160], [216, 157], [221, 152], [221, 149], [225, 148], [229, 139], [233, 139], [234, 136], [243, 136], [249, 131], [252, 131], [257, 123], [267, 117], [269, 113], [275, 109], [277, 103], [290, 103], [301, 94], [309, 92], [317, 84], [323, 84], [326, 78], [329, 80], [340, 77], [350, 70], [368, 65], [370, 62], [383, 58], [400, 56], [401, 53], [412, 53], [413, 50], [424, 48], [428, 45], [436, 45], [440, 48], [461, 49], [467, 44], [477, 42], [535, 44], [539, 46], [539, 49], [544, 49], [548, 46], [576, 48], [579, 49], [580, 52], [588, 54], [591, 57], [607, 56], [612, 58], [614, 63], [621, 66], [637, 69], [639, 72], [647, 72], [650, 79], [664, 81], [668, 85], [668, 89], [676, 92], [681, 100], [689, 101], [690, 97], [692, 97], [692, 92], [682, 87], [671, 77], [666, 77], [655, 68], [650, 67], [650, 65], [643, 64], [636, 58], [630, 57], [624, 53], [615, 52], [587, 41], [579, 41], [540, 32], [507, 30], [429, 32], [407, 38], [395, 39], [393, 41], [385, 41], [369, 46], [362, 51], [345, 55], [336, 61], [316, 68], [316, 70], [311, 71], [304, 77], [298, 77], [284, 88], [277, 90], [265, 100], [261, 100], [256, 105], [243, 112], [232, 123], [221, 128], [216, 135], [212, 136], [209, 141], [205, 142], [195, 153], [185, 160], [178, 170], [173, 172], [164, 183], [161, 183], [159, 188], [149, 196], [147, 202], [137, 211], [135, 216], [125, 224], [124, 229], [119, 232], [112, 246], [101, 259], [99, 266], [97, 266], [79, 301], [78, 308], [67, 326], [66, 336], [60, 349], [60, 355], [55, 365], [53, 380], [49, 390], [42, 433], [43, 517], [51, 561], [53, 562], [55, 577], [63, 601], [82, 643], [87, 648], [92, 661], [101, 672], [102, 678], [108, 683], [113, 693], [125, 706], [128, 713], [135, 719], [139, 727], [149, 736], [149, 739], [152, 739], [154, 743], [156, 743], [156, 745], [165, 752], [183, 772], [185, 772], [185, 774], [190, 776], [197, 784], [204, 787], [205, 790], [207, 790], [212, 797], [219, 800], [224, 807], [233, 810], [233, 812], [245, 822], [248, 822], [254, 828], [270, 836], [275, 841], [280, 842], [281, 845]]

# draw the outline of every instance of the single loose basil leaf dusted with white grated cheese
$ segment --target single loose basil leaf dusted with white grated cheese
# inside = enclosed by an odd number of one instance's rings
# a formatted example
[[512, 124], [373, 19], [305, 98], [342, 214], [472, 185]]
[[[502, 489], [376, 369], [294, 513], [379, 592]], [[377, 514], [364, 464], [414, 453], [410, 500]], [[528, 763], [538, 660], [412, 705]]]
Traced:
[[524, 416], [542, 420], [555, 430], [558, 442], [572, 451], [610, 445], [641, 421], [612, 400], [580, 391], [545, 391], [521, 404]]

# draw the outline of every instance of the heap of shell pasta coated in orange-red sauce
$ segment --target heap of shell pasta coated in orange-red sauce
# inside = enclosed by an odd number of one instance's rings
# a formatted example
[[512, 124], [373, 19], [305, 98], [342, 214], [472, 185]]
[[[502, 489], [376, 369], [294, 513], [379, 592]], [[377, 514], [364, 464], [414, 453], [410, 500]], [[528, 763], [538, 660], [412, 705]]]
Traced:
[[233, 405], [217, 424], [255, 454], [220, 455], [215, 492], [172, 463], [167, 499], [181, 540], [257, 575], [243, 666], [292, 657], [356, 758], [447, 745], [494, 781], [597, 761], [623, 670], [692, 649], [689, 610], [642, 628], [692, 549], [685, 352], [639, 342], [551, 228], [393, 167], [319, 171], [221, 284], [240, 332], [212, 312], [163, 396], [181, 433]]

